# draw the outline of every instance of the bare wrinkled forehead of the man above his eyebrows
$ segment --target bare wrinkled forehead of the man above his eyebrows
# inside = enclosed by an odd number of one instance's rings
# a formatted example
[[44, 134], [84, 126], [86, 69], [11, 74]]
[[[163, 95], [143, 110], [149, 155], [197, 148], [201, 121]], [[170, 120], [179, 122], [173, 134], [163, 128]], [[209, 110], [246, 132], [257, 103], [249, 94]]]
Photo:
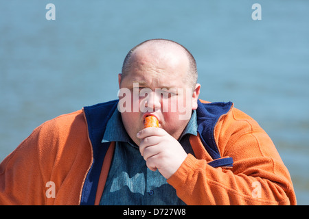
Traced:
[[183, 87], [187, 81], [189, 61], [179, 50], [140, 49], [131, 57], [126, 82], [154, 87]]

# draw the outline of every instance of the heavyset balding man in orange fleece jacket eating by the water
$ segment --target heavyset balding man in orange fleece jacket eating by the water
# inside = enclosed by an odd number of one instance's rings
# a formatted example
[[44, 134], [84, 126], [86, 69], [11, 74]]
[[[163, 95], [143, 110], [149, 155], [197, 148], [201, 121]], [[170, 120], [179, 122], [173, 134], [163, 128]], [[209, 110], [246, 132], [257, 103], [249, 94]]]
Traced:
[[3, 160], [0, 204], [295, 205], [271, 139], [233, 103], [199, 100], [196, 80], [180, 44], [137, 45], [119, 101], [47, 121]]

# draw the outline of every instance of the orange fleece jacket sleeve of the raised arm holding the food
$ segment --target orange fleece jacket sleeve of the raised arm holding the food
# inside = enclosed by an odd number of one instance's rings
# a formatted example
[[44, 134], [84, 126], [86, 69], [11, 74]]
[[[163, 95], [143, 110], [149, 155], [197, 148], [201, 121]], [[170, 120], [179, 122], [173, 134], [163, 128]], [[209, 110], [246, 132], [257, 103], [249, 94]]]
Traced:
[[214, 134], [221, 156], [233, 158], [233, 168], [208, 165], [210, 156], [194, 136], [196, 157], [187, 155], [168, 179], [187, 205], [296, 205], [289, 172], [255, 120], [233, 109], [218, 121]]

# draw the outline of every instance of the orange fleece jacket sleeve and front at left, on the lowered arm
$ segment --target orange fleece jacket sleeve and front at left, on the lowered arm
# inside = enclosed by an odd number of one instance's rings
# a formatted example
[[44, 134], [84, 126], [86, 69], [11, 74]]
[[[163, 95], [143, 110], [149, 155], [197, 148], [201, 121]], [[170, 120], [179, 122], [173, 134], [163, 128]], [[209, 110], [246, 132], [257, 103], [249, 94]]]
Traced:
[[91, 164], [82, 111], [34, 129], [0, 164], [0, 205], [78, 205]]

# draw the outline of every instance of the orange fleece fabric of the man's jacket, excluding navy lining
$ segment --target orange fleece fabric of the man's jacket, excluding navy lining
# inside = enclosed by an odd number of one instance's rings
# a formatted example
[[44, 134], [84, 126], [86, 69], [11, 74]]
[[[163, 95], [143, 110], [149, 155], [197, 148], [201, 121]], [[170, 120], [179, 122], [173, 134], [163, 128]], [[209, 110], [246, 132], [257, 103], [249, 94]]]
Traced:
[[[255, 120], [233, 108], [218, 120], [214, 135], [221, 156], [233, 157], [233, 168], [209, 166], [212, 159], [201, 140], [191, 136], [196, 157], [187, 155], [168, 179], [187, 205], [296, 204], [288, 170]], [[113, 145], [104, 159], [96, 204], [111, 165]], [[79, 205], [92, 161], [82, 110], [49, 120], [0, 164], [0, 205]], [[53, 186], [55, 196], [48, 196]]]

